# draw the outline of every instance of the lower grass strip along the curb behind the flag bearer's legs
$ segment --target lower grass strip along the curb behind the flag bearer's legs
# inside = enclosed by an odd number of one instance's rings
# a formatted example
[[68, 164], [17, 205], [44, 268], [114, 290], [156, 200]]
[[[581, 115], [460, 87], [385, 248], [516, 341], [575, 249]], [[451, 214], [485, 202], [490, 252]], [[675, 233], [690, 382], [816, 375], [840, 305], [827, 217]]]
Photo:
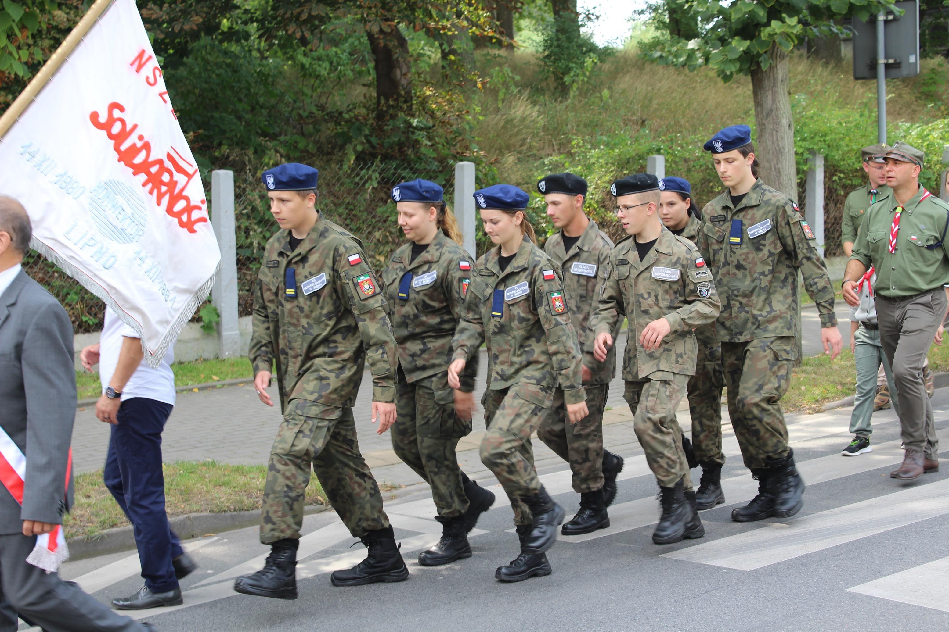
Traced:
[[[221, 514], [259, 510], [266, 465], [227, 465], [214, 460], [165, 463], [165, 509], [168, 515]], [[95, 537], [128, 520], [102, 484], [102, 470], [76, 477], [76, 502], [65, 518], [66, 537]], [[311, 477], [307, 505], [326, 504], [320, 481]]]

